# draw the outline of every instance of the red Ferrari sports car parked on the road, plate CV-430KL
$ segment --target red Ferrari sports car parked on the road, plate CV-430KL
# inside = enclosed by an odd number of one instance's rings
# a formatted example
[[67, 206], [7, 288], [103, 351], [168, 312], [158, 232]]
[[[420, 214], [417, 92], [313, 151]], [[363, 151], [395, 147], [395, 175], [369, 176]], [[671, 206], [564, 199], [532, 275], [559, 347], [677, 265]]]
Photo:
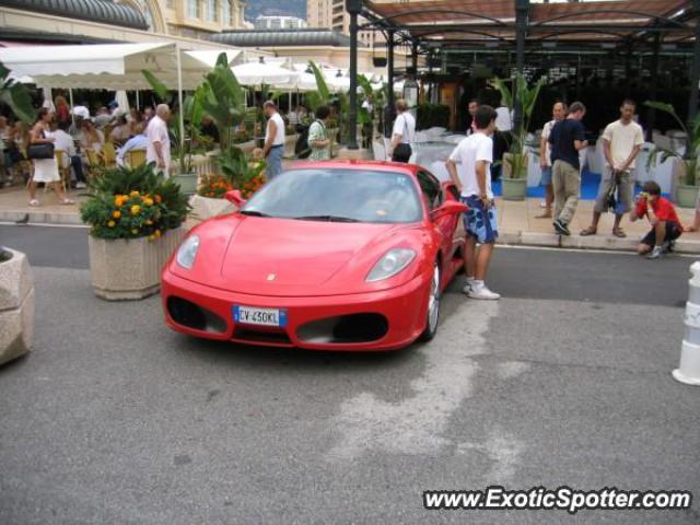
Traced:
[[196, 337], [390, 350], [438, 330], [463, 266], [456, 188], [420, 166], [307, 162], [194, 228], [162, 275], [165, 319]]

